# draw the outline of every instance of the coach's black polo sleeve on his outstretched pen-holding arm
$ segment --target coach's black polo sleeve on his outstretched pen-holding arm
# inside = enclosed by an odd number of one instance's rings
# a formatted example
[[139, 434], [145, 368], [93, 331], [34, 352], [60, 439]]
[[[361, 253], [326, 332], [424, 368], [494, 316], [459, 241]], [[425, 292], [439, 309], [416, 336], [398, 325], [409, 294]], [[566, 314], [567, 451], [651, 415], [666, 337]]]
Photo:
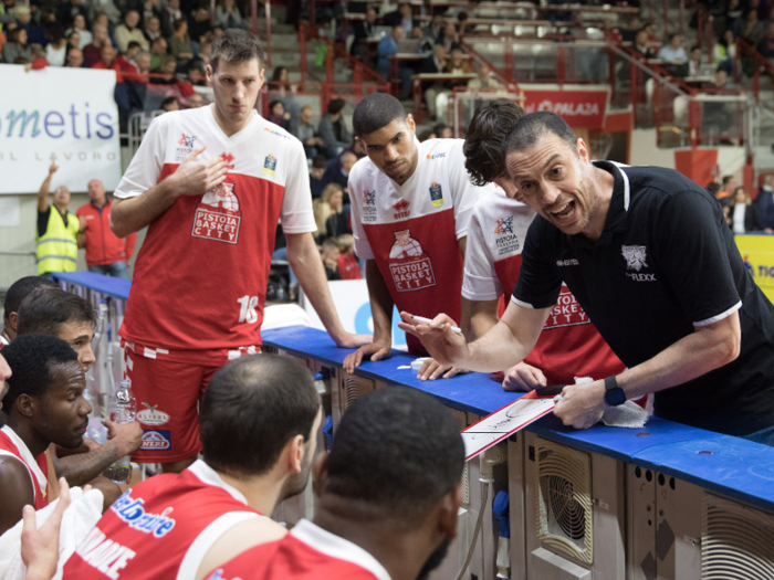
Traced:
[[[556, 304], [562, 289], [562, 277], [552, 256], [551, 232], [553, 225], [543, 218], [535, 218], [530, 224], [522, 251], [522, 266], [513, 297], [521, 305], [533, 308], [548, 308]], [[552, 259], [553, 257], [553, 259]]]

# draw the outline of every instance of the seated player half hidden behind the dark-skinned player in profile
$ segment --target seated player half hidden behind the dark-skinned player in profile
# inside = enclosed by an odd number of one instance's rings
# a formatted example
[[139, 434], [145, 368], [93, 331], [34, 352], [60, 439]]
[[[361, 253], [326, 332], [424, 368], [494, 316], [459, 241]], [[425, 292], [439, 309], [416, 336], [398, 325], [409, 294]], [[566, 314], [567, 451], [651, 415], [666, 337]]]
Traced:
[[[87, 372], [95, 361], [92, 340], [96, 324], [97, 314], [88, 300], [57, 287], [45, 287], [33, 291], [19, 306], [17, 334], [64, 340], [75, 350], [83, 371]], [[117, 488], [108, 485], [107, 479], [94, 479], [118, 457], [139, 449], [143, 429], [137, 421], [123, 425], [107, 420], [104, 423], [111, 437], [104, 445], [86, 440], [81, 453], [60, 456], [62, 452], [52, 446], [50, 454], [56, 475], [67, 479], [70, 485], [91, 483], [105, 493], [106, 498], [115, 499], [121, 495]]]

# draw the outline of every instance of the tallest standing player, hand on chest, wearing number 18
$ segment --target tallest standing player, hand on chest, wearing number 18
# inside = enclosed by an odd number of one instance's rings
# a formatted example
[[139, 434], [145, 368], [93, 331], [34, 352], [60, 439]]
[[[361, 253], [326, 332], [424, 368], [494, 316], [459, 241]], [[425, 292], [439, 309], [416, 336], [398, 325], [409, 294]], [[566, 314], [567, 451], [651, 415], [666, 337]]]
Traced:
[[260, 350], [280, 218], [287, 260], [333, 339], [370, 340], [336, 316], [311, 233], [303, 146], [253, 109], [263, 75], [260, 40], [227, 30], [207, 67], [215, 104], [155, 119], [115, 191], [113, 232], [149, 225], [119, 330], [144, 428], [133, 458], [165, 472], [201, 450], [197, 407], [215, 371]]

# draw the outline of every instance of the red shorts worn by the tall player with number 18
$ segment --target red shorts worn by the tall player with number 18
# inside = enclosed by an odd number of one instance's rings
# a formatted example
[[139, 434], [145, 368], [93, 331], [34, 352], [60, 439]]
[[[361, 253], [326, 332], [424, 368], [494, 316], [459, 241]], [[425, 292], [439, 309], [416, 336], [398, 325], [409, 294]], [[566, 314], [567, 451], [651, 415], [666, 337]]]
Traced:
[[137, 463], [172, 463], [201, 451], [199, 400], [220, 367], [155, 359], [125, 349], [126, 375], [137, 399], [143, 446]]

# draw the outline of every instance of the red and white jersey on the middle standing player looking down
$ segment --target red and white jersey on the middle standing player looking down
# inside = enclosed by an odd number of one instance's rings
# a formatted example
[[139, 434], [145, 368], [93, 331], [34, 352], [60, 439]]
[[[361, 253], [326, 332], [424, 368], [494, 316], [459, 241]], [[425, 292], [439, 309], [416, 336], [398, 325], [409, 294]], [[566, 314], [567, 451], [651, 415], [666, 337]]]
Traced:
[[[473, 204], [493, 186], [473, 186], [464, 169], [462, 139], [417, 143], [419, 162], [399, 186], [367, 157], [349, 172], [355, 253], [375, 260], [398, 310], [459, 323], [462, 256]], [[425, 355], [407, 335], [409, 352]]]

